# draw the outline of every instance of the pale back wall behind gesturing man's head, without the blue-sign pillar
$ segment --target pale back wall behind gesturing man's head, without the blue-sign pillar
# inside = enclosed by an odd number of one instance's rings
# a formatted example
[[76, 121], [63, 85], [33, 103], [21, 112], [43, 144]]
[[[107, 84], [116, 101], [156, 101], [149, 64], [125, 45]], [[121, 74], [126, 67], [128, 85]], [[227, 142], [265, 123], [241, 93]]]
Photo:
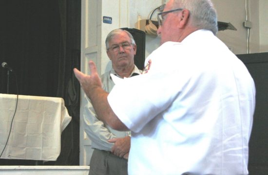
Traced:
[[[138, 16], [147, 19], [153, 9], [162, 4], [162, 0], [129, 1], [130, 28], [137, 28]], [[246, 0], [212, 0], [212, 2], [217, 10], [218, 20], [230, 22], [237, 29], [237, 31], [220, 31], [217, 36], [233, 53], [247, 53], [248, 30], [243, 26], [243, 22], [246, 20]], [[248, 20], [252, 22], [252, 28], [249, 30], [249, 53], [268, 52], [267, 8], [268, 0], [248, 0]], [[154, 20], [156, 20], [156, 14], [153, 15]], [[146, 36], [146, 56], [159, 46], [159, 41], [158, 37]]]

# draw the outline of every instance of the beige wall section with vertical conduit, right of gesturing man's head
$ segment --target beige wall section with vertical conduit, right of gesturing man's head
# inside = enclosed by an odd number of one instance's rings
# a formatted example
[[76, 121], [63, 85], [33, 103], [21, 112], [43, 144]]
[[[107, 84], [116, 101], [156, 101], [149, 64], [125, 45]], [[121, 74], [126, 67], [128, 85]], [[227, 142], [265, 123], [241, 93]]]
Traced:
[[[246, 20], [245, 0], [212, 0], [218, 13], [218, 21], [230, 22], [237, 31], [225, 30], [218, 32], [218, 37], [235, 54], [247, 53], [248, 30], [243, 26]], [[259, 0], [248, 3], [248, 20], [252, 22], [249, 37], [249, 53], [259, 52]]]

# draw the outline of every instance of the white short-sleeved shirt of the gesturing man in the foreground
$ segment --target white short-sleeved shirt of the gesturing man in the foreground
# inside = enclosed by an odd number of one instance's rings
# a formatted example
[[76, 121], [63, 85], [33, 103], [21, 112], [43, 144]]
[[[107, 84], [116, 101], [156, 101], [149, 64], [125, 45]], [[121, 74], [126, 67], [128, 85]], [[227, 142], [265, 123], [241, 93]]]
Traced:
[[129, 175], [248, 174], [254, 82], [210, 31], [166, 42], [108, 102], [132, 131]]

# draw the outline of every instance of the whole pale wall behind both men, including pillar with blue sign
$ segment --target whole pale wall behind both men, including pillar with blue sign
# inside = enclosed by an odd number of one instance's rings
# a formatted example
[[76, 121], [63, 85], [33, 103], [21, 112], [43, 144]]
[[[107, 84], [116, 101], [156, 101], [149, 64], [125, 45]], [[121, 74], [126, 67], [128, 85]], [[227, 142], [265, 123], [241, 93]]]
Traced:
[[[102, 47], [105, 37], [119, 27], [138, 28], [138, 17], [148, 19], [152, 11], [168, 0], [103, 0], [102, 15], [113, 16], [113, 24], [102, 28]], [[237, 31], [220, 31], [220, 38], [235, 54], [247, 53], [248, 30], [243, 26], [246, 20], [246, 0], [212, 0], [217, 10], [218, 21], [230, 22]], [[107, 8], [108, 7], [108, 8]], [[116, 9], [120, 9], [118, 12]], [[252, 22], [249, 30], [249, 53], [268, 52], [268, 0], [248, 0], [248, 20]], [[119, 15], [120, 13], [120, 15]], [[157, 11], [152, 19], [157, 20]], [[159, 47], [160, 38], [146, 35], [145, 57]], [[111, 62], [102, 50], [101, 73], [111, 68]]]

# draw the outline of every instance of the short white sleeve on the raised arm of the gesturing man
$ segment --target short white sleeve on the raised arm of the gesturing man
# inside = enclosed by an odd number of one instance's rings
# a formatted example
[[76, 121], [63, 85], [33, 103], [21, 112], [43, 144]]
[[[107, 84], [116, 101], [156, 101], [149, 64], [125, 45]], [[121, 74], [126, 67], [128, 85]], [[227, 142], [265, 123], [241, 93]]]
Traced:
[[149, 73], [131, 77], [115, 85], [108, 95], [108, 103], [116, 116], [131, 131], [139, 132], [167, 109], [179, 93], [180, 88], [170, 84], [166, 77]]

